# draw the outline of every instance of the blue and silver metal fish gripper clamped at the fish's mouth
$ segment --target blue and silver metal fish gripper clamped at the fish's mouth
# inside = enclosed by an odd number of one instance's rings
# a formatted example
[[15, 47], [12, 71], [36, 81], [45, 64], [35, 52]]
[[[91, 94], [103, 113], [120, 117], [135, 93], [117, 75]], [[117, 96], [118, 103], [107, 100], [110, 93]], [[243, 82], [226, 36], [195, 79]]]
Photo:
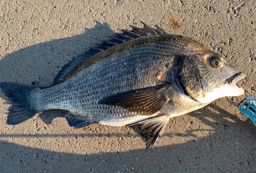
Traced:
[[246, 98], [243, 99], [240, 103], [231, 100], [229, 97], [226, 97], [226, 99], [230, 104], [232, 104], [233, 106], [238, 107], [238, 110], [241, 113], [243, 113], [244, 115], [247, 115], [252, 120], [254, 125], [256, 126], [256, 104], [255, 104], [255, 100], [246, 88], [244, 88], [242, 85], [238, 85], [238, 87], [244, 89], [244, 93], [245, 93]]

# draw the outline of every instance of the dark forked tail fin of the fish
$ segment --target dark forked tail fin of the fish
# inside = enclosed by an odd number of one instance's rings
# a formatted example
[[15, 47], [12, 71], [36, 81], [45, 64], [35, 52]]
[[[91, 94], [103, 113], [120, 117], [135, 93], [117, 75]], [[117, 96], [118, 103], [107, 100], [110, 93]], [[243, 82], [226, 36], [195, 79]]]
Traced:
[[28, 99], [31, 91], [37, 87], [12, 82], [2, 82], [0, 83], [0, 88], [13, 102], [12, 106], [8, 109], [7, 124], [16, 125], [41, 113], [33, 107]]

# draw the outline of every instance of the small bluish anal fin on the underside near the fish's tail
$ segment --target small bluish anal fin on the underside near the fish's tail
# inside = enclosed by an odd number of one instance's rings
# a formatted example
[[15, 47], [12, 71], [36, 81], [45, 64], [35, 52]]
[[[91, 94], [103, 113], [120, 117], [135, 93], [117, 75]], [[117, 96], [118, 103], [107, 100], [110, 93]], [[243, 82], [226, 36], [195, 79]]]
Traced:
[[88, 126], [90, 124], [94, 124], [94, 122], [92, 122], [90, 120], [82, 119], [79, 117], [73, 117], [68, 114], [65, 115], [64, 117], [67, 119], [69, 126], [74, 127], [74, 128], [82, 128], [82, 127]]

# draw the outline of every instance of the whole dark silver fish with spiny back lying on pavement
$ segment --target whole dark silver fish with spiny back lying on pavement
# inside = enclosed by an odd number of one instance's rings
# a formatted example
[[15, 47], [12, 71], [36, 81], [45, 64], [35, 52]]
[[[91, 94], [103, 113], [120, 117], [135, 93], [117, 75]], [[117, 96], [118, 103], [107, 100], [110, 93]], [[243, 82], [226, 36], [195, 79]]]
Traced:
[[7, 124], [57, 109], [74, 128], [139, 124], [153, 147], [170, 118], [244, 95], [237, 82], [246, 75], [225, 57], [189, 37], [142, 24], [74, 58], [49, 87], [1, 82], [12, 101]]

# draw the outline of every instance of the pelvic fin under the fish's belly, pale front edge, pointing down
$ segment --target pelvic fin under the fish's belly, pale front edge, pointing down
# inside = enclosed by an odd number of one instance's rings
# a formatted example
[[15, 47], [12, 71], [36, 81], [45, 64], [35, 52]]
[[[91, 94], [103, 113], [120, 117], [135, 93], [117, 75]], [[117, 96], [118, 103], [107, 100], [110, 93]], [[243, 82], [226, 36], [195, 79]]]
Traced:
[[168, 116], [160, 116], [149, 118], [137, 123], [129, 124], [131, 126], [134, 124], [143, 124], [141, 126], [143, 134], [146, 136], [146, 144], [148, 147], [153, 147], [157, 139], [163, 134], [166, 125], [169, 122]]

